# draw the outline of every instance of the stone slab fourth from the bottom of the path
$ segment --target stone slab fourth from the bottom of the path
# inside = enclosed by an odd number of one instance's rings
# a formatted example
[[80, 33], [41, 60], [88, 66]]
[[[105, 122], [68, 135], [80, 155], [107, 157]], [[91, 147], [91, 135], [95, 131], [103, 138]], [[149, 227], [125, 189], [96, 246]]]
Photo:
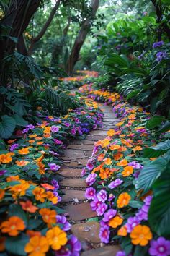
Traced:
[[62, 202], [79, 202], [79, 200], [86, 200], [84, 190], [62, 189], [62, 192], [65, 194], [62, 197]]

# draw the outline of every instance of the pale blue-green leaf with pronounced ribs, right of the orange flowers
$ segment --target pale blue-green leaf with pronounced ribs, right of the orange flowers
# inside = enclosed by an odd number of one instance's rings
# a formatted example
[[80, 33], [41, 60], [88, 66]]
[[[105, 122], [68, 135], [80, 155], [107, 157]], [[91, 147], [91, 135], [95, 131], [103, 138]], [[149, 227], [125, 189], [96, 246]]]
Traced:
[[143, 192], [148, 192], [153, 183], [158, 179], [161, 173], [166, 169], [167, 161], [163, 157], [151, 161], [140, 172], [136, 181], [136, 189], [143, 189]]

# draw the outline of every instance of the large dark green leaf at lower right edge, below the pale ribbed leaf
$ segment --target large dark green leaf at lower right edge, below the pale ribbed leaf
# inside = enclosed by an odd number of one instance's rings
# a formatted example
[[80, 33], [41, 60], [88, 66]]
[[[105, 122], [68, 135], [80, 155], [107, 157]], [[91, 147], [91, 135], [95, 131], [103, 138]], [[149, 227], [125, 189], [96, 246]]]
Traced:
[[170, 161], [166, 170], [153, 184], [153, 200], [148, 212], [148, 221], [151, 229], [156, 231], [158, 236], [169, 236], [170, 223]]

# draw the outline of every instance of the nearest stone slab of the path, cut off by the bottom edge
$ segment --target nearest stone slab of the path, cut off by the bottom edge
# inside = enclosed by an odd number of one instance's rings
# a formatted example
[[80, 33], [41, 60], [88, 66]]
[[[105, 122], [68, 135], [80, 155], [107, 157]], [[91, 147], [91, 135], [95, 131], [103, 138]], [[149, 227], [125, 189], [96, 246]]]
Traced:
[[118, 245], [104, 246], [97, 249], [89, 249], [81, 256], [115, 256], [121, 248]]

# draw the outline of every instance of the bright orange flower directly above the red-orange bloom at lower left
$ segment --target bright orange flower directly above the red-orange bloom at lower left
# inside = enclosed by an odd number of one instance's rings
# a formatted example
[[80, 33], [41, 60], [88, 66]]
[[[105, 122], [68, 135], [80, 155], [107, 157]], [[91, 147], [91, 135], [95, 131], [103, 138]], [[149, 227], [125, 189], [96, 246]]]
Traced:
[[22, 197], [22, 195], [25, 195], [26, 190], [30, 187], [30, 184], [28, 182], [21, 180], [19, 181], [20, 184], [14, 185], [10, 188], [10, 191], [12, 192], [12, 197], [16, 199], [17, 197]]

